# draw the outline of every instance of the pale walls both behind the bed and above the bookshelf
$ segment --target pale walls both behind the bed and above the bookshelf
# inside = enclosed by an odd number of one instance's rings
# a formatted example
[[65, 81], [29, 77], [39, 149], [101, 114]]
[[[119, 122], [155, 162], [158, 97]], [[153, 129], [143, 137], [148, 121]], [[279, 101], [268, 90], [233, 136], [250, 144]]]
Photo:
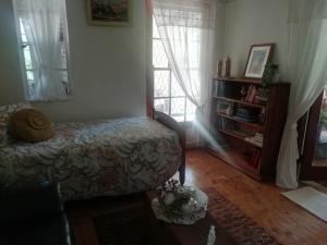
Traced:
[[[131, 27], [90, 26], [86, 0], [66, 0], [73, 73], [69, 101], [37, 103], [55, 121], [145, 114], [146, 13], [132, 1]], [[216, 60], [232, 58], [242, 76], [252, 44], [276, 42], [274, 61], [284, 72], [286, 0], [230, 0], [218, 4]], [[0, 105], [24, 100], [11, 0], [0, 1]], [[215, 64], [214, 64], [215, 65]]]

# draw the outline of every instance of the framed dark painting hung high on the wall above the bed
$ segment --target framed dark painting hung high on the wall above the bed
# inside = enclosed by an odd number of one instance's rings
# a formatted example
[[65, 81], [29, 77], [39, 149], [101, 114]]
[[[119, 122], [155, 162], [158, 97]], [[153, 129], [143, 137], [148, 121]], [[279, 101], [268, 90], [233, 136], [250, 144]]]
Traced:
[[129, 26], [132, 0], [87, 0], [87, 19], [92, 25]]

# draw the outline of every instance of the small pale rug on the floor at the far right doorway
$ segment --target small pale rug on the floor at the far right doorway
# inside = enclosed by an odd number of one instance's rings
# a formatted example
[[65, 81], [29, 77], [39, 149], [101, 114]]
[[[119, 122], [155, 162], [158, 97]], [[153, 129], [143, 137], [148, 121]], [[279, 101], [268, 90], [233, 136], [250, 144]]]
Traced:
[[327, 195], [311, 186], [282, 193], [291, 201], [327, 222]]

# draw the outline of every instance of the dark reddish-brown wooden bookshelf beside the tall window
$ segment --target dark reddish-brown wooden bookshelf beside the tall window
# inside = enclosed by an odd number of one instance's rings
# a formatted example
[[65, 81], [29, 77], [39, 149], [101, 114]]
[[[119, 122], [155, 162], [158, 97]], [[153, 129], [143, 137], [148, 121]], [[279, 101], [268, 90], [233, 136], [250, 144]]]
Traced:
[[[255, 86], [256, 90], [262, 88], [262, 82], [258, 79], [229, 77], [214, 79], [213, 83], [219, 83], [217, 86], [220, 90], [213, 89], [217, 94], [211, 95], [210, 122], [214, 125], [211, 133], [217, 137], [218, 144], [223, 139], [221, 144], [227, 144], [228, 148], [215, 149], [208, 144], [207, 149], [256, 180], [275, 177], [276, 162], [287, 118], [290, 84], [272, 84], [269, 88], [267, 103], [261, 105], [255, 100], [241, 99], [240, 93], [242, 88], [244, 90], [244, 87], [245, 90], [249, 90], [250, 86]], [[230, 105], [233, 113], [221, 112], [220, 103]], [[246, 122], [246, 120], [235, 118], [235, 114], [240, 117], [240, 111], [244, 110], [251, 112], [252, 117], [257, 117], [261, 123]], [[243, 117], [246, 119], [246, 115]], [[255, 145], [246, 142], [244, 140], [246, 137], [254, 137], [261, 143]], [[263, 139], [261, 140], [261, 138]]]

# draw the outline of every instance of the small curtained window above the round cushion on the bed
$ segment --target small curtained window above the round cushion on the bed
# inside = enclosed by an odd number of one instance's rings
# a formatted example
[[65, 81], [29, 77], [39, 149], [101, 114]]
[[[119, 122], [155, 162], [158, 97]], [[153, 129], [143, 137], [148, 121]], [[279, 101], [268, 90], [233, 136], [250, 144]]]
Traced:
[[[27, 8], [28, 1], [32, 8]], [[51, 1], [36, 0], [31, 4], [33, 0], [15, 0], [19, 48], [28, 100], [64, 99], [70, 95], [64, 0]], [[62, 10], [51, 10], [51, 7]], [[45, 23], [47, 21], [57, 24]]]

